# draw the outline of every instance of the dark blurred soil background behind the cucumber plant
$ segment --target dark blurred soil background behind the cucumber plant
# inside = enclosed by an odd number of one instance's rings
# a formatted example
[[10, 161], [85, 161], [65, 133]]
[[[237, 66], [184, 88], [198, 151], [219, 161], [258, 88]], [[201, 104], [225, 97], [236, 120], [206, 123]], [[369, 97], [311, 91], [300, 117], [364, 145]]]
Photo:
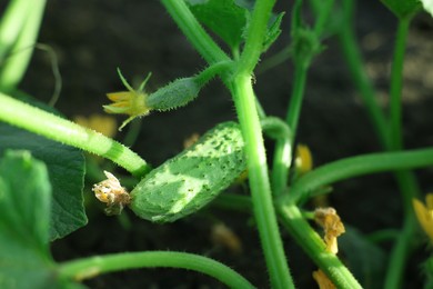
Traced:
[[[289, 11], [291, 4], [280, 1], [275, 11]], [[290, 12], [275, 48], [263, 57], [263, 61], [290, 43], [289, 16]], [[384, 106], [395, 23], [394, 17], [380, 1], [359, 1], [355, 19], [359, 42], [369, 74]], [[153, 91], [175, 78], [195, 73], [205, 64], [159, 1], [49, 0], [39, 42], [50, 44], [59, 57], [63, 88], [57, 109], [69, 118], [101, 112], [101, 106], [108, 103], [104, 94], [123, 90], [117, 67], [133, 81], [142, 80], [152, 71], [148, 89]], [[330, 39], [325, 44], [326, 50], [314, 61], [309, 74], [299, 130], [299, 140], [311, 148], [315, 166], [380, 150], [338, 42]], [[423, 13], [411, 27], [404, 71], [403, 120], [407, 148], [433, 146], [432, 52], [433, 20]], [[42, 101], [50, 99], [54, 86], [50, 61], [46, 53], [37, 51], [22, 83], [22, 89]], [[258, 76], [255, 89], [268, 114], [285, 114], [291, 80], [292, 66], [289, 61]], [[193, 132], [203, 133], [229, 119], [235, 119], [230, 96], [221, 83], [213, 81], [187, 108], [153, 113], [143, 119], [139, 140], [132, 149], [157, 166], [181, 151], [183, 140]], [[417, 175], [423, 191], [431, 191], [432, 169], [420, 170]], [[117, 218], [105, 217], [102, 207], [91, 201], [90, 188], [85, 195], [90, 202], [89, 225], [52, 245], [56, 260], [122, 251], [170, 249], [197, 252], [221, 260], [259, 288], [269, 288], [258, 232], [250, 216], [212, 208], [175, 223], [160, 226], [127, 212], [131, 226], [125, 227]], [[401, 226], [402, 206], [390, 175], [338, 183], [328, 202], [338, 210], [348, 227], [353, 226], [363, 233]], [[216, 221], [224, 222], [239, 236], [243, 245], [241, 255], [211, 241], [211, 228]], [[284, 229], [282, 232], [298, 287], [314, 288], [311, 273], [315, 266]], [[420, 238], [424, 237], [420, 235]], [[384, 243], [382, 249], [389, 252], [390, 245]], [[425, 257], [426, 251], [420, 250], [410, 260], [404, 277], [405, 288], [420, 288], [422, 285], [419, 266]], [[363, 280], [364, 277], [359, 278]], [[85, 285], [91, 288], [223, 288], [205, 276], [173, 269], [105, 275]], [[374, 288], [374, 282], [370, 287]]]

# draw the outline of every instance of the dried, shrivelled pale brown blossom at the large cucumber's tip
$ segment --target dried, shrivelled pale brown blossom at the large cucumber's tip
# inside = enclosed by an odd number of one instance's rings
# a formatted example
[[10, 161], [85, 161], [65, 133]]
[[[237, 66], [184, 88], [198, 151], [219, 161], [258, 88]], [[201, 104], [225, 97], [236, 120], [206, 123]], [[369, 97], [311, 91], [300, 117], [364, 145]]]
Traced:
[[107, 203], [108, 215], [120, 215], [123, 207], [131, 201], [128, 191], [120, 185], [118, 178], [111, 172], [103, 171], [107, 180], [93, 185], [92, 191], [98, 200]]

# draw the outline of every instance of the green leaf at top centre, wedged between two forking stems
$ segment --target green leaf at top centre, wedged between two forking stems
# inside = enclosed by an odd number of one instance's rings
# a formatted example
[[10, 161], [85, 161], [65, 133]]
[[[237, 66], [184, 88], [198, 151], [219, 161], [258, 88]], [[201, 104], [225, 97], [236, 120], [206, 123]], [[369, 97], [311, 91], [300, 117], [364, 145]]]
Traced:
[[198, 20], [231, 49], [239, 48], [249, 10], [233, 0], [187, 0]]

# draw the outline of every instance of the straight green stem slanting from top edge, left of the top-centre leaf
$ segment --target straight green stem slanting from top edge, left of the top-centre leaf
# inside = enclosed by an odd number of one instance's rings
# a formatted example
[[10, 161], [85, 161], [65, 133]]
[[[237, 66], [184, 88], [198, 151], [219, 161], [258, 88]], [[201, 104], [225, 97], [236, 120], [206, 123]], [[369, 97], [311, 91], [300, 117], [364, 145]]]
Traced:
[[167, 11], [209, 64], [230, 60], [222, 49], [204, 31], [184, 1], [161, 0]]

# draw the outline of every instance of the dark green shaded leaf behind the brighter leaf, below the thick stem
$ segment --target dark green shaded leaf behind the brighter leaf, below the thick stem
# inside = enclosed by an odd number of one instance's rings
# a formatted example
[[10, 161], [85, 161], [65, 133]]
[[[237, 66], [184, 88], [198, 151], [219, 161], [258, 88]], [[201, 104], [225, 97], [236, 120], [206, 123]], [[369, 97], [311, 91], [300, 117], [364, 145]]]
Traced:
[[[83, 207], [84, 158], [78, 149], [0, 123], [0, 155], [6, 149], [31, 151], [48, 168], [52, 186], [50, 240], [62, 238], [87, 223]], [[27, 178], [22, 178], [24, 183]]]

